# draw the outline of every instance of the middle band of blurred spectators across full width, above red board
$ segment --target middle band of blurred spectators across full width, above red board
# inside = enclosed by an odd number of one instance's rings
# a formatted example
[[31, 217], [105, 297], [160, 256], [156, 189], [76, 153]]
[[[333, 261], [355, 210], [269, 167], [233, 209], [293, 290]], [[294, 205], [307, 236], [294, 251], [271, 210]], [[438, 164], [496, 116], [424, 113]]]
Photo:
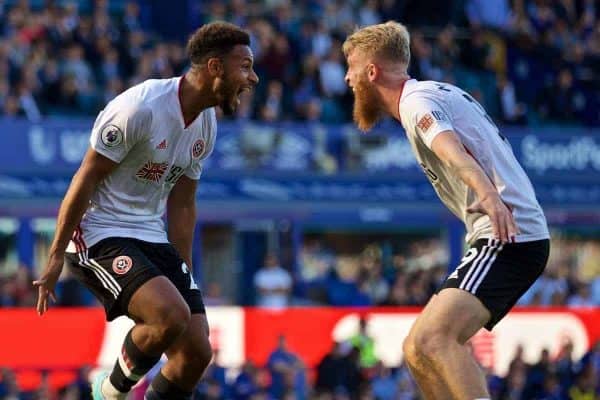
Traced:
[[[346, 247], [339, 248], [336, 243]], [[210, 253], [210, 249], [205, 251]], [[252, 276], [250, 305], [423, 306], [445, 280], [449, 254], [445, 240], [438, 237], [390, 237], [361, 245], [347, 237], [328, 243], [319, 235], [311, 235], [291, 263], [296, 267], [282, 262], [276, 253], [265, 255]], [[0, 308], [35, 305], [33, 279], [31, 269], [24, 265], [14, 272], [0, 269]], [[224, 284], [203, 282], [206, 305], [239, 304], [239, 298], [224, 295], [228, 292]], [[63, 271], [56, 292], [58, 306], [98, 305], [68, 269]], [[556, 232], [548, 266], [518, 304], [600, 306], [600, 242], [562, 237]]]

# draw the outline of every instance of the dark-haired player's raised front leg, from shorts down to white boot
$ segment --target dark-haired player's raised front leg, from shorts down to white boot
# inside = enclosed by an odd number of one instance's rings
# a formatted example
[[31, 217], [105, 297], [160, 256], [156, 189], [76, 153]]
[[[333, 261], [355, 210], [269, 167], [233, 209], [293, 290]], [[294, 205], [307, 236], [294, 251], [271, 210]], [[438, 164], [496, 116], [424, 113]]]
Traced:
[[154, 244], [104, 239], [89, 249], [79, 244], [67, 265], [102, 302], [107, 319], [128, 315], [135, 327], [127, 333], [109, 376], [93, 383], [95, 399], [122, 399], [187, 329], [190, 310], [178, 289], [146, 253]]

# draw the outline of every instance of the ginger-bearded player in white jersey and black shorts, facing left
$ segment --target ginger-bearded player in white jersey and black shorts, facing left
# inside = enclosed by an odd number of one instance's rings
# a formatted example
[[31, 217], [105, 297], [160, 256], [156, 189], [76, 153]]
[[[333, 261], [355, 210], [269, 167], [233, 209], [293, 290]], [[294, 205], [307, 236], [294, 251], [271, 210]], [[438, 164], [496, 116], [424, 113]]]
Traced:
[[465, 343], [491, 330], [544, 270], [544, 213], [484, 108], [456, 86], [410, 78], [403, 25], [360, 29], [343, 50], [358, 127], [367, 131], [383, 116], [400, 121], [438, 196], [467, 229], [469, 249], [412, 326], [405, 360], [427, 399], [489, 399]]

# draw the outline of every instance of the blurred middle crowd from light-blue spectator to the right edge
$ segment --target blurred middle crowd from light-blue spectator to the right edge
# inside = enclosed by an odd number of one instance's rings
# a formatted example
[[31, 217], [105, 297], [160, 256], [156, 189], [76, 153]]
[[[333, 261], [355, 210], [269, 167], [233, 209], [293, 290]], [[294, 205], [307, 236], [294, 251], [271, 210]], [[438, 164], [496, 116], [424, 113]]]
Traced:
[[[311, 238], [302, 247], [295, 273], [268, 255], [254, 279], [256, 304], [422, 306], [447, 276], [446, 244], [438, 238], [405, 243], [391, 249], [382, 241], [359, 253], [340, 253]], [[600, 306], [600, 243], [557, 235], [546, 270], [519, 305]]]

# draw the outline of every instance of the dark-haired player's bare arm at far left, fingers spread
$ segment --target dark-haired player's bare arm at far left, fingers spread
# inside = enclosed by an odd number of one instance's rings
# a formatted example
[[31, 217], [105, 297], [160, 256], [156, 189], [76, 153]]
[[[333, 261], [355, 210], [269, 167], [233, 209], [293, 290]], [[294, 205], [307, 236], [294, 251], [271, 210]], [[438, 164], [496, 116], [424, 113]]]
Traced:
[[60, 205], [56, 221], [56, 233], [50, 246], [46, 268], [37, 281], [37, 312], [42, 315], [48, 310], [48, 297], [56, 301], [54, 286], [63, 268], [65, 249], [88, 207], [96, 186], [110, 174], [117, 163], [89, 149], [81, 166], [73, 176], [71, 185]]

